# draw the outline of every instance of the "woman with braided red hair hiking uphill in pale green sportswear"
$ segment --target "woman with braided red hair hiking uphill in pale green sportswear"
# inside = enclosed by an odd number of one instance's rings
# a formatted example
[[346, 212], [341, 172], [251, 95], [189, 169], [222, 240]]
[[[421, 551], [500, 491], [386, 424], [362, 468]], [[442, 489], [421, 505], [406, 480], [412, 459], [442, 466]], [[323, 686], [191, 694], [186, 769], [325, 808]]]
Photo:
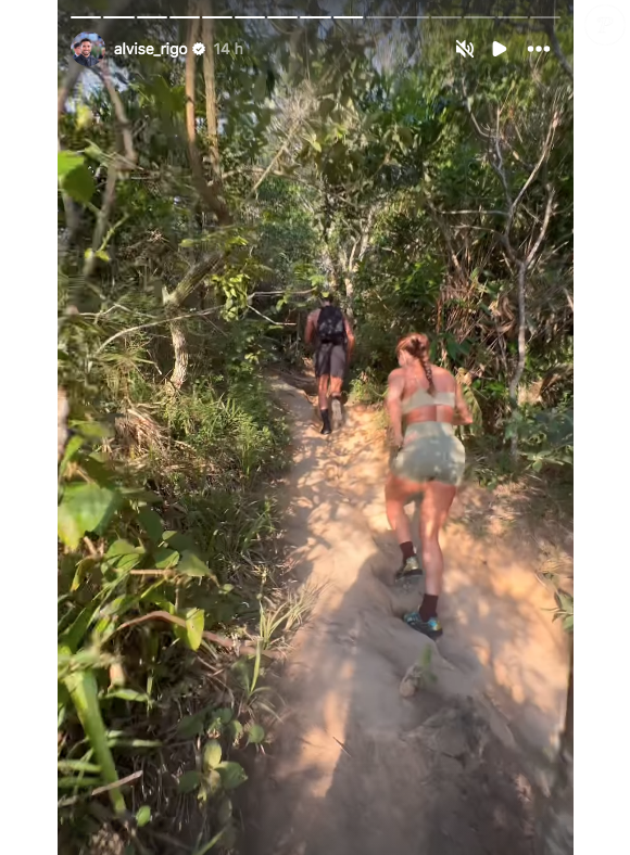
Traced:
[[423, 495], [419, 534], [427, 576], [425, 595], [418, 611], [405, 614], [403, 620], [434, 639], [442, 635], [438, 620], [444, 571], [440, 531], [462, 483], [466, 460], [453, 426], [470, 424], [472, 417], [455, 378], [429, 361], [426, 335], [413, 333], [402, 339], [396, 356], [400, 368], [389, 375], [387, 395], [398, 449], [385, 487], [387, 518], [403, 556], [396, 578], [420, 575], [405, 505]]

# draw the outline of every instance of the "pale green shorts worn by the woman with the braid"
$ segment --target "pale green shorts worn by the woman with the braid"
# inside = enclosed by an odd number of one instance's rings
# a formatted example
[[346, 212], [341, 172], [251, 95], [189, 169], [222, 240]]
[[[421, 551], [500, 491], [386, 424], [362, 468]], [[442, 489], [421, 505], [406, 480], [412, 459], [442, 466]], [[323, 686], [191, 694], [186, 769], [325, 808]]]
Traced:
[[393, 460], [391, 471], [417, 484], [439, 481], [458, 487], [465, 465], [466, 451], [452, 424], [416, 422], [405, 431], [403, 447]]

